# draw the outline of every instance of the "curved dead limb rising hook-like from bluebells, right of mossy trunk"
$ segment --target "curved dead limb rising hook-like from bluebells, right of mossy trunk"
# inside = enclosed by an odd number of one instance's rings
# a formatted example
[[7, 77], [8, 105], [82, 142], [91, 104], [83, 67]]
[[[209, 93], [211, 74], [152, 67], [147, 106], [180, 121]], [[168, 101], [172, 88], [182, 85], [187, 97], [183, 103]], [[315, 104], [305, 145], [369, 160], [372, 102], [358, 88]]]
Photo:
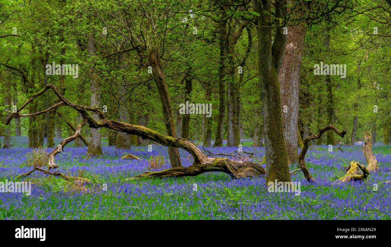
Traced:
[[299, 155], [298, 168], [301, 169], [301, 171], [304, 174], [305, 179], [307, 179], [308, 182], [315, 182], [316, 181], [311, 176], [310, 172], [308, 172], [307, 165], [305, 165], [305, 160], [304, 159], [305, 159], [305, 154], [307, 153], [307, 149], [308, 149], [308, 142], [311, 141], [311, 140], [314, 140], [314, 139], [321, 138], [322, 134], [324, 132], [326, 132], [326, 131], [329, 131], [329, 130], [333, 130], [335, 133], [337, 133], [341, 137], [344, 137], [344, 135], [346, 134], [345, 130], [344, 131], [339, 131], [339, 129], [337, 129], [335, 126], [327, 125], [327, 126], [321, 128], [321, 129], [319, 129], [319, 133], [318, 134], [313, 134], [313, 135], [307, 136], [304, 139], [304, 147], [303, 147], [303, 149], [301, 149], [301, 152], [300, 152], [300, 155]]

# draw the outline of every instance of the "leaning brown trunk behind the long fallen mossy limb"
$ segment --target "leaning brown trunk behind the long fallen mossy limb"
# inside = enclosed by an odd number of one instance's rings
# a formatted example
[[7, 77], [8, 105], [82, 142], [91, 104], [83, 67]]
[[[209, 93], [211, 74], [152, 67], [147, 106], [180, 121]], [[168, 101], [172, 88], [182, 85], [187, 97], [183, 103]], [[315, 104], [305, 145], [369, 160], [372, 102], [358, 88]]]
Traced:
[[[166, 126], [166, 131], [169, 136], [176, 138], [176, 132], [174, 127], [174, 121], [172, 119], [172, 107], [169, 95], [169, 90], [166, 84], [166, 80], [161, 67], [160, 54], [159, 54], [159, 41], [155, 40], [154, 29], [150, 21], [147, 21], [148, 30], [145, 32], [145, 43], [147, 46], [148, 63], [152, 67], [152, 74], [155, 79], [156, 87], [158, 88], [160, 102], [163, 111], [163, 122]], [[181, 159], [179, 157], [179, 151], [177, 147], [168, 148], [171, 167], [180, 167]]]

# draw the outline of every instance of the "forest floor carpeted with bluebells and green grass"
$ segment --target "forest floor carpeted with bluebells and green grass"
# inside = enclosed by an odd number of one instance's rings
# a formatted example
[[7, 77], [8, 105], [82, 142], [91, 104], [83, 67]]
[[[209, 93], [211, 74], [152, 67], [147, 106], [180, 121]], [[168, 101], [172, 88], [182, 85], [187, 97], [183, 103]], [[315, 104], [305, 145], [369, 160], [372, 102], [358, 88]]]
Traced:
[[[16, 176], [32, 168], [26, 165], [32, 152], [28, 138], [12, 137], [11, 143], [10, 149], [0, 149], [0, 182], [21, 181]], [[350, 161], [366, 165], [362, 146], [343, 147], [344, 152], [337, 146], [334, 152], [328, 152], [326, 145], [310, 147], [306, 163], [318, 183], [308, 183], [301, 171], [294, 173], [292, 181], [301, 184], [300, 195], [295, 195], [268, 192], [265, 177], [231, 179], [221, 172], [126, 180], [147, 171], [151, 155], [164, 157], [159, 169], [169, 168], [167, 148], [153, 145], [148, 152], [148, 147], [124, 150], [108, 147], [107, 141], [103, 144], [99, 158], [86, 157], [87, 147], [73, 143], [56, 156], [59, 172], [77, 176], [84, 170], [90, 183], [82, 189], [74, 181], [34, 172], [23, 179], [31, 182], [31, 195], [0, 193], [0, 219], [391, 219], [391, 183], [384, 183], [391, 180], [390, 145], [373, 145], [378, 172], [369, 174], [366, 181], [349, 183], [336, 180]], [[245, 144], [243, 150], [255, 151], [251, 160], [259, 163], [265, 149]], [[213, 153], [237, 150], [206, 149]], [[129, 151], [141, 159], [122, 160]], [[191, 165], [192, 157], [184, 150], [180, 154], [182, 164]]]

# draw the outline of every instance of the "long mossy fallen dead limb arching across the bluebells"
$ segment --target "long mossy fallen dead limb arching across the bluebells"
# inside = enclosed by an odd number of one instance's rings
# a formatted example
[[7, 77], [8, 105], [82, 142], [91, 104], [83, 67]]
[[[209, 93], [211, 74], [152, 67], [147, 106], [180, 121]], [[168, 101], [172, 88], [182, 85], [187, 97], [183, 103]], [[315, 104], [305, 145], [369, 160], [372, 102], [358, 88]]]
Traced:
[[[26, 107], [34, 98], [38, 97], [45, 93], [45, 91], [52, 89], [54, 93], [59, 97], [59, 99], [63, 102], [63, 105], [72, 107], [76, 111], [78, 111], [83, 116], [83, 121], [81, 124], [77, 125], [77, 129], [73, 136], [65, 138], [59, 146], [61, 148], [55, 148], [50, 154], [50, 168], [57, 168], [58, 166], [54, 163], [54, 157], [57, 153], [61, 152], [61, 150], [65, 147], [65, 145], [75, 140], [79, 134], [80, 129], [87, 122], [91, 128], [108, 128], [113, 129], [115, 131], [125, 132], [127, 134], [133, 134], [136, 136], [140, 136], [143, 139], [149, 139], [151, 141], [156, 141], [157, 143], [164, 145], [166, 147], [176, 147], [185, 149], [189, 152], [193, 158], [194, 163], [188, 167], [176, 167], [170, 168], [167, 170], [159, 171], [159, 172], [144, 172], [138, 177], [181, 177], [181, 176], [195, 176], [202, 174], [204, 172], [225, 172], [230, 174], [231, 177], [240, 178], [240, 177], [254, 177], [259, 175], [265, 175], [265, 169], [262, 168], [261, 165], [256, 164], [251, 161], [232, 161], [227, 158], [209, 158], [206, 156], [201, 150], [199, 150], [194, 143], [188, 141], [187, 139], [174, 138], [171, 136], [163, 135], [157, 131], [153, 131], [152, 129], [148, 129], [144, 126], [138, 126], [133, 124], [127, 124], [124, 122], [119, 122], [115, 120], [108, 120], [104, 113], [98, 107], [91, 106], [81, 106], [78, 104], [74, 104], [70, 102], [61, 92], [56, 88], [56, 86], [52, 84], [47, 84], [41, 91], [33, 95], [23, 104], [22, 107], [16, 111], [16, 113], [12, 113], [11, 116], [7, 119], [6, 124], [8, 125], [14, 117], [19, 116], [19, 112]], [[54, 107], [54, 106], [53, 106]], [[52, 108], [53, 109], [53, 108]], [[96, 113], [99, 117], [96, 120], [91, 113]], [[37, 113], [38, 114], [38, 113]]]

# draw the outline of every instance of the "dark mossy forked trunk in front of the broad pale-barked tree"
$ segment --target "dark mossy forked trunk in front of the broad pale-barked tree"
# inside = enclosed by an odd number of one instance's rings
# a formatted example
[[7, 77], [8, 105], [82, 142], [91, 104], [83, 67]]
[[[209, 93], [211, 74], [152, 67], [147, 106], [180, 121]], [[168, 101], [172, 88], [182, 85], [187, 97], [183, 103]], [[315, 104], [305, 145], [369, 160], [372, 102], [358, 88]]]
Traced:
[[[282, 107], [278, 72], [281, 68], [286, 36], [283, 27], [276, 28], [272, 42], [271, 2], [253, 1], [257, 16], [258, 34], [258, 71], [260, 91], [263, 102], [265, 150], [266, 150], [266, 184], [269, 182], [290, 182], [287, 146], [283, 137]], [[276, 1], [276, 18], [283, 18], [286, 13], [286, 1]], [[273, 46], [272, 46], [273, 43]]]

